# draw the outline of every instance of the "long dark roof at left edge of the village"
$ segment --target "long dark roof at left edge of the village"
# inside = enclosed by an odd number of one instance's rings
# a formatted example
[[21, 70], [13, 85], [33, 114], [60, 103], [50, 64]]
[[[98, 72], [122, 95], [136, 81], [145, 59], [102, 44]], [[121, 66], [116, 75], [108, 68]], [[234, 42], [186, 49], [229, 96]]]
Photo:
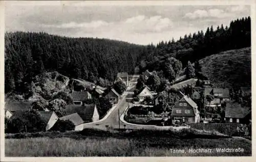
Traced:
[[15, 102], [7, 101], [5, 109], [10, 111], [28, 111], [31, 109], [33, 102]]

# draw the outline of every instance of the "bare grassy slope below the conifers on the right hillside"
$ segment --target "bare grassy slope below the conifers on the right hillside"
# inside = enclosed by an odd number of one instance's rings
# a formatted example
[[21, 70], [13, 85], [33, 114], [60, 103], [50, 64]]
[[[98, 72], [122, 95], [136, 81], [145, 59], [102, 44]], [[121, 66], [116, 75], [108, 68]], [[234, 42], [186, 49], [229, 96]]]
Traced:
[[251, 48], [227, 50], [199, 61], [202, 73], [214, 86], [242, 87], [251, 85]]

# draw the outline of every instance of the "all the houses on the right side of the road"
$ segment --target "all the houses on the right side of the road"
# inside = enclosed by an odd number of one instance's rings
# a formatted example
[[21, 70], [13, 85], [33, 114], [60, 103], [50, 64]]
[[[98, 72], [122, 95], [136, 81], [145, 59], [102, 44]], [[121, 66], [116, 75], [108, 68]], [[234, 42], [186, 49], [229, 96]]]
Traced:
[[[149, 78], [152, 75], [152, 72], [146, 70], [142, 73], [144, 78]], [[251, 109], [250, 107], [243, 107], [241, 104], [234, 102], [230, 98], [229, 89], [227, 88], [212, 88], [210, 80], [203, 80], [203, 87], [196, 87], [196, 82], [198, 80], [191, 78], [187, 80], [183, 80], [172, 86], [172, 88], [183, 88], [188, 85], [193, 87], [193, 94], [191, 98], [188, 95], [182, 94], [182, 98], [179, 102], [173, 107], [171, 117], [172, 122], [176, 123], [197, 123], [200, 122], [200, 112], [198, 104], [204, 99], [204, 107], [212, 107], [217, 109], [217, 107], [221, 107], [222, 103], [226, 103], [224, 112], [224, 122], [225, 123], [246, 123], [251, 119]], [[251, 94], [251, 89], [242, 87], [241, 88], [242, 95]], [[213, 96], [213, 99], [208, 101], [207, 96]], [[146, 96], [156, 96], [154, 92], [151, 92], [147, 86], [138, 93], [138, 97], [140, 101], [142, 101]], [[202, 97], [203, 96], [203, 97]], [[158, 98], [157, 96], [154, 98], [154, 104], [157, 105]], [[203, 108], [204, 108], [203, 107]], [[202, 108], [202, 107], [201, 107]], [[219, 115], [220, 116], [220, 115]], [[208, 119], [203, 119], [208, 120]]]

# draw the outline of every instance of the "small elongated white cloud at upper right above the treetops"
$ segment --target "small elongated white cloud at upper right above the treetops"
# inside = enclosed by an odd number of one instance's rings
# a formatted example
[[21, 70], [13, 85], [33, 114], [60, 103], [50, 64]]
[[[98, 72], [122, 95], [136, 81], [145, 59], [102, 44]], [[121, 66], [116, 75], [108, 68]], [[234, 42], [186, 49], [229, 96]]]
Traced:
[[197, 18], [205, 18], [205, 17], [214, 17], [214, 18], [223, 18], [228, 17], [230, 14], [228, 12], [224, 12], [221, 9], [209, 9], [209, 10], [196, 10], [194, 12], [186, 13], [184, 18], [189, 19], [197, 19]]

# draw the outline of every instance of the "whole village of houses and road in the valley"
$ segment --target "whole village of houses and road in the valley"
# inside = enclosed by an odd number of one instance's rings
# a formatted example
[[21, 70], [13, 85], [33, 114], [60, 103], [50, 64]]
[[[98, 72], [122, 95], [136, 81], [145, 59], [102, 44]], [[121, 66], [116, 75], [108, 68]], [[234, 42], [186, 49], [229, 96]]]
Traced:
[[[218, 130], [237, 136], [250, 136], [251, 109], [245, 103], [251, 101], [250, 87], [241, 87], [234, 92], [225, 87], [214, 87], [208, 79], [187, 79], [189, 75], [185, 73], [189, 73], [188, 68], [192, 69], [192, 75], [195, 76], [193, 65], [188, 66], [183, 70], [184, 75], [176, 78], [172, 85], [169, 83], [163, 85], [164, 90], [160, 92], [156, 92], [162, 86], [160, 82], [157, 83], [159, 76], [156, 71], [145, 70], [141, 74], [134, 75], [119, 72], [114, 85], [109, 87], [88, 84], [82, 79], [71, 79], [69, 83], [66, 82], [66, 85], [63, 84], [63, 87], [72, 85], [70, 86], [71, 89], [66, 91], [67, 93], [58, 92], [55, 94], [70, 100], [67, 101], [67, 105], [63, 105], [65, 115], [59, 113], [58, 110], [59, 114], [57, 115], [47, 108], [49, 103], [43, 103], [44, 100], [32, 97], [29, 99], [30, 101], [6, 101], [5, 116], [6, 119], [20, 118], [20, 120], [26, 120], [27, 111], [35, 110], [39, 118], [47, 123], [45, 130], [63, 131], [63, 128], [59, 128], [60, 125], [57, 121], [71, 121], [75, 126], [74, 130], [82, 130], [95, 127], [94, 123], [99, 125], [97, 124], [99, 121], [104, 124], [104, 120], [113, 118], [113, 116], [109, 116], [112, 113], [110, 110], [116, 109], [118, 114], [112, 114], [117, 115], [116, 118], [120, 118], [122, 114], [119, 111], [121, 110], [123, 113], [121, 126], [124, 125], [124, 128], [127, 129], [130, 128], [130, 124], [132, 129], [134, 125], [137, 125], [137, 127], [135, 126], [136, 129], [141, 129], [144, 125], [165, 126], [166, 128], [191, 127]], [[52, 77], [55, 75], [55, 80], [60, 77], [67, 78], [57, 72], [51, 74]], [[95, 103], [94, 100], [103, 98], [105, 100], [102, 102], [105, 103], [102, 104], [106, 105], [98, 105], [100, 109], [103, 108], [106, 111], [103, 116], [100, 116], [97, 104], [89, 103]], [[120, 104], [121, 102], [126, 104]], [[106, 118], [102, 120], [104, 116]], [[205, 125], [205, 123], [209, 123], [209, 125]], [[232, 125], [228, 125], [230, 123]], [[117, 122], [105, 123], [105, 127], [117, 128]], [[118, 128], [120, 129], [120, 119], [118, 120]], [[149, 127], [148, 129], [155, 128]]]

